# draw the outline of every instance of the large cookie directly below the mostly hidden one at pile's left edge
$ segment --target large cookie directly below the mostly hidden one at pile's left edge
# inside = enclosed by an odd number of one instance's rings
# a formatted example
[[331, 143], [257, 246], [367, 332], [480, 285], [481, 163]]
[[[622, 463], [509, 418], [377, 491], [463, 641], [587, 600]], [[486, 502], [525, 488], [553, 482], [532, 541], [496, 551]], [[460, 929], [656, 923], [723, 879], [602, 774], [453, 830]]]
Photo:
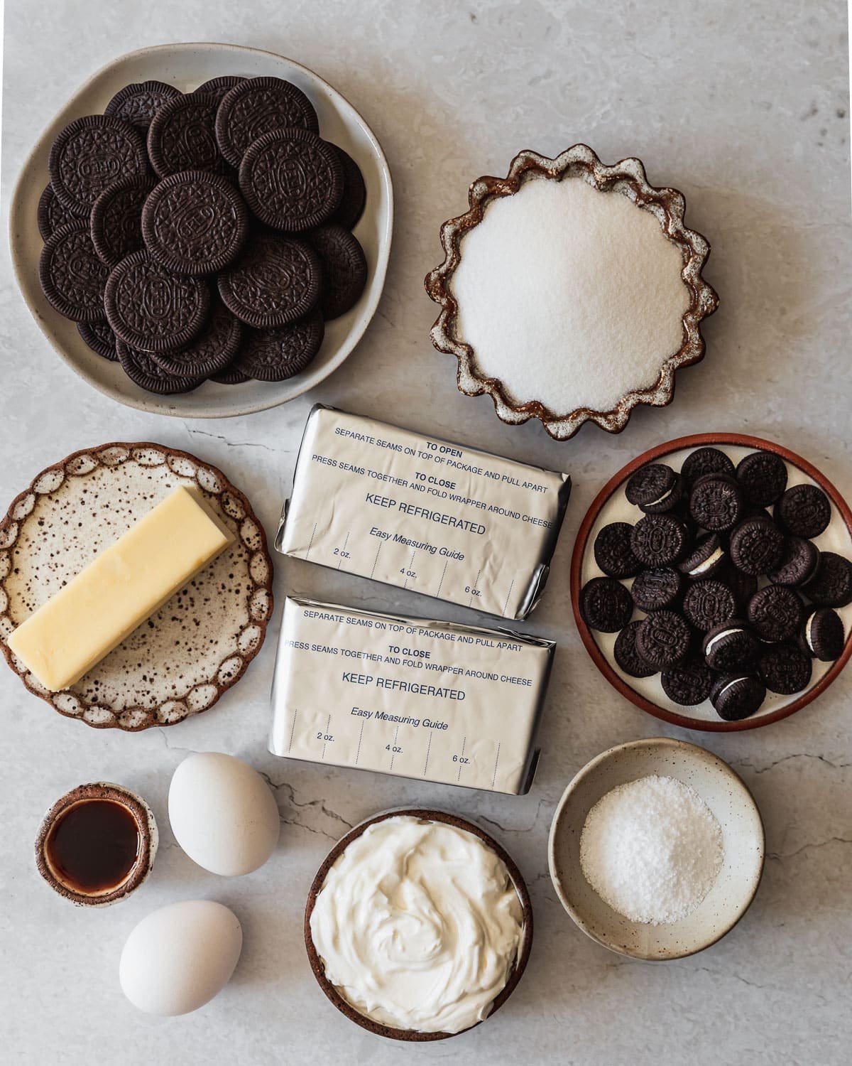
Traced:
[[88, 223], [82, 220], [61, 226], [38, 259], [38, 280], [47, 302], [75, 322], [103, 320], [109, 273], [95, 252]]

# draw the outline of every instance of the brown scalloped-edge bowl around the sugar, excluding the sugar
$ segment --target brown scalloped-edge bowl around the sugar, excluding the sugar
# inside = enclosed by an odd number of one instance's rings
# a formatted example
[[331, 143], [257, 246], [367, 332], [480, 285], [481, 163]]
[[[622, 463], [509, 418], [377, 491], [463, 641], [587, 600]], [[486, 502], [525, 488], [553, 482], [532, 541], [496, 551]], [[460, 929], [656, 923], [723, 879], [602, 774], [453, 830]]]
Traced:
[[[603, 192], [627, 196], [638, 207], [651, 211], [659, 221], [666, 236], [676, 244], [684, 258], [681, 276], [690, 293], [690, 305], [684, 314], [684, 341], [677, 352], [663, 362], [657, 382], [650, 388], [625, 393], [611, 410], [592, 410], [578, 407], [571, 411], [551, 410], [539, 401], [520, 403], [507, 391], [497, 377], [480, 373], [476, 353], [457, 335], [458, 306], [452, 293], [452, 279], [462, 255], [462, 238], [477, 226], [488, 205], [502, 196], [517, 193], [521, 184], [531, 179], [559, 181], [564, 177], [579, 177]], [[469, 191], [470, 208], [464, 214], [450, 219], [441, 226], [441, 244], [444, 261], [426, 276], [426, 291], [441, 313], [431, 328], [432, 344], [439, 352], [455, 355], [458, 359], [457, 382], [461, 392], [469, 397], [488, 393], [494, 402], [497, 418], [518, 425], [538, 418], [547, 433], [556, 440], [568, 440], [586, 422], [595, 422], [608, 433], [621, 433], [638, 404], [663, 407], [674, 398], [674, 375], [682, 367], [699, 362], [704, 357], [704, 339], [701, 322], [719, 306], [719, 297], [701, 275], [710, 254], [706, 238], [684, 225], [686, 199], [676, 189], [661, 189], [649, 184], [644, 166], [639, 159], [622, 159], [612, 166], [601, 162], [585, 144], [567, 148], [555, 159], [536, 151], [519, 152], [505, 178], [477, 178]]]

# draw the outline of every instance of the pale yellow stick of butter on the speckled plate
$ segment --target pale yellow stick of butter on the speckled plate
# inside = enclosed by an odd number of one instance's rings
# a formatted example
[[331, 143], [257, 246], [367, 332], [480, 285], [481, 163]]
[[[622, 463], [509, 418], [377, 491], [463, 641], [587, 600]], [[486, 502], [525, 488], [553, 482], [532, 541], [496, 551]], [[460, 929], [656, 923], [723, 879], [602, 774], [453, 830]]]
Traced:
[[200, 496], [176, 488], [21, 623], [9, 646], [47, 690], [67, 689], [233, 540]]

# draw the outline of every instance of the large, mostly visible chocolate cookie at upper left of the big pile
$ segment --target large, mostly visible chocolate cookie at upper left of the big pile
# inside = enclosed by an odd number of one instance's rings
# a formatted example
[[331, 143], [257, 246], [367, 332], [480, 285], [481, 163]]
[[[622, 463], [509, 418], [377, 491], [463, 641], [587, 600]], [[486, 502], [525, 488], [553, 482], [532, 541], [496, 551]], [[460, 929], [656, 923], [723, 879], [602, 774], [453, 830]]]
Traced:
[[53, 142], [47, 168], [62, 205], [87, 219], [92, 205], [116, 178], [147, 175], [148, 156], [130, 123], [113, 115], [84, 115]]

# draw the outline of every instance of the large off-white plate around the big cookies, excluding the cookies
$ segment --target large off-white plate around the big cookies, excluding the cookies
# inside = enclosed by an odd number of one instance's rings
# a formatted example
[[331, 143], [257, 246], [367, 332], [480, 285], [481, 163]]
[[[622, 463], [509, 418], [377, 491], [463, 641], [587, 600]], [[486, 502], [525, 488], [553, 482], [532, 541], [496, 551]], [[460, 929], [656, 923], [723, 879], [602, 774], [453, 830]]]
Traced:
[[[206, 382], [193, 392], [160, 397], [135, 386], [117, 364], [89, 351], [77, 326], [45, 300], [38, 284], [42, 238], [36, 210], [48, 183], [47, 159], [60, 130], [81, 115], [102, 112], [110, 98], [130, 82], [158, 79], [191, 91], [217, 75], [285, 78], [310, 97], [325, 140], [340, 145], [358, 163], [366, 185], [366, 206], [354, 232], [366, 255], [367, 285], [346, 314], [327, 323], [323, 346], [304, 373], [285, 382], [216, 385]], [[180, 418], [227, 418], [285, 403], [318, 385], [344, 361], [361, 339], [378, 306], [393, 230], [393, 187], [384, 154], [375, 134], [340, 93], [292, 60], [224, 44], [175, 44], [142, 48], [113, 60], [89, 78], [59, 112], [30, 152], [18, 177], [10, 209], [12, 262], [23, 298], [42, 332], [68, 366], [89, 385], [129, 407]]]

